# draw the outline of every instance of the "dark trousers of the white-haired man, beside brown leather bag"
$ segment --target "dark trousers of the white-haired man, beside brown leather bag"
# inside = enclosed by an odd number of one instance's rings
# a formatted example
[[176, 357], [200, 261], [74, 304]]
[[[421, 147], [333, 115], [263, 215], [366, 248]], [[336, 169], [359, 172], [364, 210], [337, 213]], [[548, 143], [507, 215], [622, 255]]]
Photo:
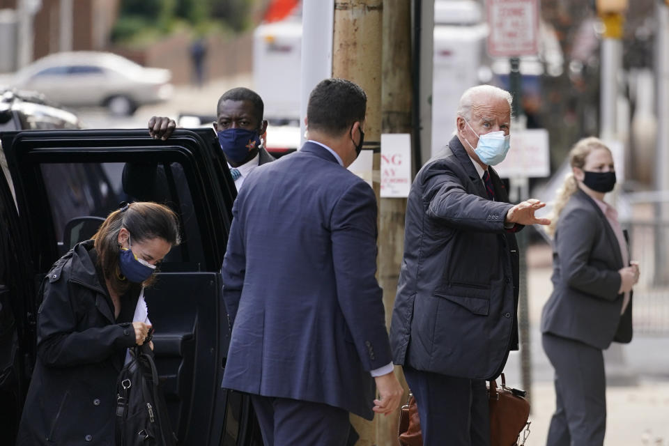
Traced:
[[454, 378], [404, 367], [418, 404], [424, 446], [489, 446], [490, 415], [484, 380]]

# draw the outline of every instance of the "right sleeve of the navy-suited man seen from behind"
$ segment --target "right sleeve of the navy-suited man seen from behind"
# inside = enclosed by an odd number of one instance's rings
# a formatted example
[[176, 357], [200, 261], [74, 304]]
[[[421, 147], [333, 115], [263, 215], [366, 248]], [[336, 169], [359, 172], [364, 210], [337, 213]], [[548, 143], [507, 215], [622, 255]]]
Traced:
[[339, 307], [364, 369], [378, 369], [392, 358], [375, 277], [376, 197], [367, 183], [356, 182], [339, 198], [331, 230]]

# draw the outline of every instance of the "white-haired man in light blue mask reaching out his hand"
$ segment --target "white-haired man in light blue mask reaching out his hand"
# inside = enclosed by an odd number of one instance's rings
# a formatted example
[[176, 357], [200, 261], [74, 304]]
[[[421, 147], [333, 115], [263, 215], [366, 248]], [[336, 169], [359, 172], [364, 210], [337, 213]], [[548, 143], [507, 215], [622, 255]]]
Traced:
[[489, 445], [485, 380], [518, 347], [514, 233], [545, 206], [507, 203], [492, 165], [509, 150], [511, 95], [463, 93], [456, 134], [418, 172], [408, 198], [404, 258], [390, 326], [418, 404], [424, 445]]

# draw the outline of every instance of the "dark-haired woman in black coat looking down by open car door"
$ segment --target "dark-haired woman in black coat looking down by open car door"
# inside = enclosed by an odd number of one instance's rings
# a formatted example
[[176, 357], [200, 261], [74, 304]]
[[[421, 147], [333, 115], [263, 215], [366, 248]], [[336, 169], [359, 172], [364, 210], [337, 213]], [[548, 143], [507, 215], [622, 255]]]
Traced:
[[169, 208], [125, 204], [54, 263], [17, 445], [114, 445], [116, 378], [127, 349], [151, 328], [144, 286], [179, 242]]

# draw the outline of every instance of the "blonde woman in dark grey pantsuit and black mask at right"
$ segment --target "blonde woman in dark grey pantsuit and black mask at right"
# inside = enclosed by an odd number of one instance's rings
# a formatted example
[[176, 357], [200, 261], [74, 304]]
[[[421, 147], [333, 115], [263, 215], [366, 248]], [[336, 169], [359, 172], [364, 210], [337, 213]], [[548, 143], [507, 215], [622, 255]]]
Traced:
[[606, 382], [602, 350], [632, 338], [632, 286], [617, 212], [604, 202], [615, 186], [611, 152], [602, 141], [581, 139], [569, 152], [571, 174], [558, 191], [551, 226], [553, 293], [544, 306], [544, 351], [555, 369], [556, 410], [548, 446], [602, 445]]

